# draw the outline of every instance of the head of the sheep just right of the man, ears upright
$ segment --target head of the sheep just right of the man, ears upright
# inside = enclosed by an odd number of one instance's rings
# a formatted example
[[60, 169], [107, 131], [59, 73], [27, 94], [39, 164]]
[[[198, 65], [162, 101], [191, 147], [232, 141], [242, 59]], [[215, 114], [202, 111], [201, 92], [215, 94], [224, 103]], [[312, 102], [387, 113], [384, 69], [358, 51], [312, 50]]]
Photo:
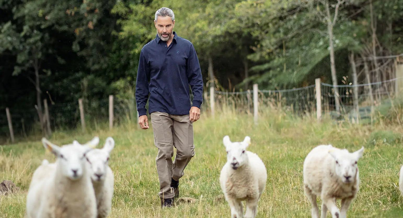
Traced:
[[231, 142], [229, 136], [226, 135], [223, 139], [224, 146], [227, 152], [227, 162], [231, 168], [237, 170], [248, 161], [246, 148], [250, 143], [250, 137], [247, 136], [242, 142]]

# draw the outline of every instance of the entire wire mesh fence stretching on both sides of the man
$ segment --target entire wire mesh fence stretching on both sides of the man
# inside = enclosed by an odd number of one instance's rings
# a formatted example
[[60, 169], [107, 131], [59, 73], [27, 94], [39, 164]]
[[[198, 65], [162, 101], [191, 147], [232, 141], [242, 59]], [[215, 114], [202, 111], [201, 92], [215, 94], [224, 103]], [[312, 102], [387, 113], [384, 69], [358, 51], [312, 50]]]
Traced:
[[[399, 93], [399, 84], [403, 77], [387, 81], [358, 85], [331, 85], [320, 83], [321, 109], [323, 113], [335, 113], [335, 90], [339, 91], [340, 113], [337, 116], [349, 114], [353, 111], [354, 91], [357, 92], [357, 104], [366, 115], [368, 108], [381, 104], [386, 99], [391, 99]], [[309, 85], [296, 89], [284, 90], [260, 90], [257, 89], [258, 111], [277, 108], [297, 115], [316, 112], [316, 86]], [[214, 108], [210, 98], [214, 95]], [[193, 96], [190, 95], [190, 101]], [[86, 126], [91, 129], [97, 125], [107, 125], [109, 120], [109, 99], [91, 100], [83, 99], [84, 120]], [[232, 110], [236, 113], [253, 113], [253, 91], [226, 92], [214, 90], [213, 93], [205, 92], [202, 104], [202, 112], [208, 114], [212, 110], [216, 112]], [[146, 105], [148, 108], [148, 104]], [[48, 106], [50, 127], [52, 130], [81, 128], [79, 103], [51, 102]], [[4, 110], [3, 110], [4, 111]], [[15, 135], [26, 137], [32, 133], [41, 133], [38, 112], [35, 108], [24, 111], [10, 110], [12, 127]], [[365, 114], [363, 116], [366, 116]], [[131, 122], [137, 125], [137, 109], [135, 98], [113, 98], [113, 124]], [[10, 135], [5, 111], [0, 113], [0, 137]]]

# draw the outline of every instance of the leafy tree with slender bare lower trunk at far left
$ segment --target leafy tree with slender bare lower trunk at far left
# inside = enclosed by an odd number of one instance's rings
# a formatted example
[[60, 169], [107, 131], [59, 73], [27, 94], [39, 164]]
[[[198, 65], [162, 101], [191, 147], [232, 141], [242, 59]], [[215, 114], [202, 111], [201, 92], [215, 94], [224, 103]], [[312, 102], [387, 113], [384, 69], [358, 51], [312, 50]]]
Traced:
[[[47, 134], [44, 129], [40, 74], [42, 72], [50, 73], [42, 68], [42, 62], [47, 56], [54, 53], [54, 48], [50, 46], [53, 39], [50, 37], [49, 17], [44, 16], [44, 5], [45, 1], [42, 0], [20, 2], [15, 5], [14, 19], [2, 27], [0, 38], [3, 40], [0, 47], [6, 48], [17, 57], [13, 75], [25, 73], [26, 77], [35, 85], [35, 108], [42, 132]], [[31, 79], [29, 76], [31, 73], [35, 75], [35, 79]]]

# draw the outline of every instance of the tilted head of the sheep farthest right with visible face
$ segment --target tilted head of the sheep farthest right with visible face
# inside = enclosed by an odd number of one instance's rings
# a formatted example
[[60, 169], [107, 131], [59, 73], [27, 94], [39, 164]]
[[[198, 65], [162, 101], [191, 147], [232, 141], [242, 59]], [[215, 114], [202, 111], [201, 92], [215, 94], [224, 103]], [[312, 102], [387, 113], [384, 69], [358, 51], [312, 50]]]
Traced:
[[363, 152], [364, 147], [353, 153], [348, 152], [346, 149], [329, 151], [329, 154], [334, 158], [336, 175], [343, 183], [355, 181], [355, 175], [358, 171], [357, 161], [362, 157]]

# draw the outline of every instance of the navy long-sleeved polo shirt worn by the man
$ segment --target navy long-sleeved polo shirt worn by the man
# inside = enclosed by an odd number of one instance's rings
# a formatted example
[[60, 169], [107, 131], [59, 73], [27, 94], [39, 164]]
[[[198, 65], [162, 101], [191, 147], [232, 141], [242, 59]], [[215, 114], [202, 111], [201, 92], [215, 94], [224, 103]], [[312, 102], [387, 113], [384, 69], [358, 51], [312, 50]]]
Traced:
[[136, 82], [139, 116], [147, 114], [145, 104], [149, 97], [149, 114], [158, 111], [185, 115], [191, 106], [200, 108], [203, 102], [203, 78], [195, 48], [188, 40], [173, 34], [169, 46], [157, 34], [141, 49]]

